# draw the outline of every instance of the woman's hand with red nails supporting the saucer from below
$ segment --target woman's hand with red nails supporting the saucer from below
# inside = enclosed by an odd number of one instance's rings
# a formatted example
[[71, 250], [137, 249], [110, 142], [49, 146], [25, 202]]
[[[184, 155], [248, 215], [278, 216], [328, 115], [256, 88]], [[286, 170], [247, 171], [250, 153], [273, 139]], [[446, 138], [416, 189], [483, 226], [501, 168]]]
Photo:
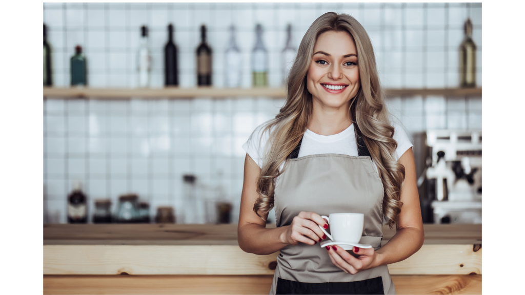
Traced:
[[346, 273], [355, 273], [360, 272], [361, 270], [374, 268], [379, 266], [379, 256], [374, 250], [374, 248], [363, 249], [358, 247], [353, 247], [352, 251], [359, 255], [357, 258], [353, 257], [349, 252], [346, 252], [342, 247], [337, 245], [327, 246], [328, 256], [332, 263], [342, 269]]

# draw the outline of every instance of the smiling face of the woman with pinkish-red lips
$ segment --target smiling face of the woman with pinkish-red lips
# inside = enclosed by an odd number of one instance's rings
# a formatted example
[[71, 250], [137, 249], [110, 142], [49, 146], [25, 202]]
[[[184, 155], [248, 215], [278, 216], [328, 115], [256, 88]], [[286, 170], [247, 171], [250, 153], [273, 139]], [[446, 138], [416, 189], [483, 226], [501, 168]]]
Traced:
[[315, 104], [348, 107], [361, 86], [357, 49], [346, 31], [327, 31], [317, 38], [307, 75]]

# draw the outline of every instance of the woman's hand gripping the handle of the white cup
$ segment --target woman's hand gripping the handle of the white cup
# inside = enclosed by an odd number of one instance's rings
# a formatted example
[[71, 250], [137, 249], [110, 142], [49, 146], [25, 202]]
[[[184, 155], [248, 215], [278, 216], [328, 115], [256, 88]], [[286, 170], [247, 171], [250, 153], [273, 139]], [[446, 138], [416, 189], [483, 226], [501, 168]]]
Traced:
[[297, 245], [299, 242], [315, 245], [326, 238], [319, 226], [328, 228], [328, 224], [317, 213], [301, 212], [293, 217], [292, 224], [281, 234], [280, 240], [288, 245]]

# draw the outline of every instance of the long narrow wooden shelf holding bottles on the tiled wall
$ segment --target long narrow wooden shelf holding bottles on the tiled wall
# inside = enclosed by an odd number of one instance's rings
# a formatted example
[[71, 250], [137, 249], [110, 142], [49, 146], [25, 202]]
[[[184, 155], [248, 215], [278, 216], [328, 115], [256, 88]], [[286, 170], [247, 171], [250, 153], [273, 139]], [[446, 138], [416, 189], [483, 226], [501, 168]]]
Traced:
[[[427, 89], [386, 89], [388, 97], [396, 96], [482, 96], [483, 88], [427, 88]], [[59, 99], [162, 99], [162, 98], [239, 98], [270, 97], [284, 98], [284, 88], [54, 88], [43, 87], [43, 98]]]

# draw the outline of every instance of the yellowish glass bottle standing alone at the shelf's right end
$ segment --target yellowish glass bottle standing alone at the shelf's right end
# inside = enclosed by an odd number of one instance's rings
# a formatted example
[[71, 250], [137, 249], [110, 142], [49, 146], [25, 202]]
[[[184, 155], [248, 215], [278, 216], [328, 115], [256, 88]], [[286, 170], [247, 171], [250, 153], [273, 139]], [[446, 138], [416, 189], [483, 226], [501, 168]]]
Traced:
[[465, 36], [459, 46], [459, 79], [461, 87], [476, 87], [476, 44], [472, 40], [470, 18], [464, 25]]

